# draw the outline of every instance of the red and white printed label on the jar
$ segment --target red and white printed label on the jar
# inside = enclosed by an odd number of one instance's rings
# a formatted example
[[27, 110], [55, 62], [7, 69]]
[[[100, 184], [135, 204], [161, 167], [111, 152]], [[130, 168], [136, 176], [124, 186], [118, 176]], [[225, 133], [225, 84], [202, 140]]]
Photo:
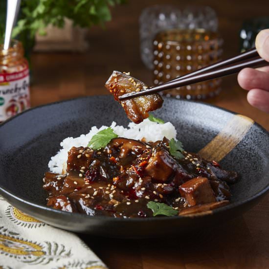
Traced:
[[29, 69], [0, 73], [0, 122], [30, 108]]

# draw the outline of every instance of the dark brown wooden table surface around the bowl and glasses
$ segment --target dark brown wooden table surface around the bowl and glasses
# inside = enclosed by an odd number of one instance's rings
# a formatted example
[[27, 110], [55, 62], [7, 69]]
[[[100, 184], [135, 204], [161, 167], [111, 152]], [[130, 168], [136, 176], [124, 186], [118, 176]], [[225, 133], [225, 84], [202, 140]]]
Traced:
[[[145, 6], [161, 0], [129, 1], [116, 7], [105, 31], [89, 31], [89, 51], [34, 53], [32, 56], [32, 105], [78, 96], [107, 94], [104, 83], [112, 70], [131, 71], [134, 77], [152, 82], [139, 55], [138, 17]], [[180, 1], [185, 5], [187, 1]], [[210, 5], [219, 16], [224, 38], [224, 57], [238, 53], [238, 31], [243, 20], [268, 16], [268, 0], [193, 0]], [[166, 1], [177, 4], [177, 0]], [[251, 107], [236, 77], [223, 80], [220, 96], [207, 100], [247, 115], [269, 130], [269, 115]], [[83, 235], [88, 245], [111, 269], [176, 268], [269, 268], [269, 195], [237, 219], [210, 230], [172, 239], [119, 240]]]

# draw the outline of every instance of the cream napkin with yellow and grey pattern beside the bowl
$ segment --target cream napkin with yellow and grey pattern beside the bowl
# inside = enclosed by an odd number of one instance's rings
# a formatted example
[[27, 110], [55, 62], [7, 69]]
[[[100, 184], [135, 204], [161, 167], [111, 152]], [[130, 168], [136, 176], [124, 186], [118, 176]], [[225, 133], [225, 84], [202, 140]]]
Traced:
[[74, 233], [42, 223], [0, 196], [0, 269], [107, 269]]

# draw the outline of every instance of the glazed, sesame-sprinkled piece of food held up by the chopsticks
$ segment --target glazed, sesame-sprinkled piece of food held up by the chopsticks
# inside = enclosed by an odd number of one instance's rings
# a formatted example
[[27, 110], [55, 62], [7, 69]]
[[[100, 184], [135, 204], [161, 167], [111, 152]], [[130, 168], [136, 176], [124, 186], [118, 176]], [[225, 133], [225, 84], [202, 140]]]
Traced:
[[159, 109], [163, 103], [163, 99], [157, 93], [119, 101], [118, 97], [125, 93], [148, 89], [142, 81], [127, 73], [113, 71], [105, 87], [114, 95], [114, 99], [122, 105], [128, 118], [134, 123], [142, 122], [149, 116], [149, 112]]

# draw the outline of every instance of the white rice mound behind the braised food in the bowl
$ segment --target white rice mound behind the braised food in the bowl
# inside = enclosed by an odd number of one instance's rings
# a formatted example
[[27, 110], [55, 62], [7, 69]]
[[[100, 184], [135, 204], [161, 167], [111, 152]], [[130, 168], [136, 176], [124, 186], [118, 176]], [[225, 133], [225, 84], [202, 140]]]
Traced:
[[[146, 141], [157, 141], [161, 140], [164, 136], [168, 139], [175, 138], [177, 136], [177, 131], [171, 122], [166, 122], [164, 124], [159, 124], [157, 122], [150, 121], [149, 119], [144, 120], [139, 124], [129, 123], [128, 128], [116, 125], [113, 121], [111, 126], [114, 133], [119, 137], [125, 137], [130, 139], [142, 139], [143, 137]], [[88, 134], [81, 134], [79, 137], [67, 137], [61, 143], [60, 151], [48, 162], [48, 167], [51, 172], [59, 173], [66, 171], [66, 163], [68, 157], [68, 151], [71, 147], [86, 147], [91, 139], [91, 137], [101, 130], [108, 128], [108, 126], [102, 126], [101, 128], [96, 128], [93, 126]]]

